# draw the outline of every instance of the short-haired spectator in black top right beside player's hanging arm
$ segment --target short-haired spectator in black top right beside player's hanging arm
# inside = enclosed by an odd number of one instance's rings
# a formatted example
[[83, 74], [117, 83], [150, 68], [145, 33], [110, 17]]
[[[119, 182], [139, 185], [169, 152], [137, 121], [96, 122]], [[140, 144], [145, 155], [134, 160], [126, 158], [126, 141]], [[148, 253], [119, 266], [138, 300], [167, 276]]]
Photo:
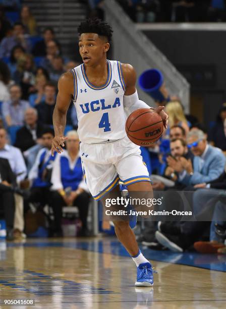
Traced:
[[45, 100], [36, 106], [38, 120], [44, 125], [52, 125], [52, 114], [55, 106], [56, 89], [55, 85], [48, 82], [44, 88]]

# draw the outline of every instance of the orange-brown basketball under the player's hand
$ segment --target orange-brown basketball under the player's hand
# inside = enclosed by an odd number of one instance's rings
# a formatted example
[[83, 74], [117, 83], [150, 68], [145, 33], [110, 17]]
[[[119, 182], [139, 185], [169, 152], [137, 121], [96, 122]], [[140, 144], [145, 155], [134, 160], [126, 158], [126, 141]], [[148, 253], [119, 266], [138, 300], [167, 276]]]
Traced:
[[163, 128], [161, 117], [151, 109], [136, 110], [126, 121], [126, 133], [129, 139], [144, 147], [158, 140], [163, 133]]

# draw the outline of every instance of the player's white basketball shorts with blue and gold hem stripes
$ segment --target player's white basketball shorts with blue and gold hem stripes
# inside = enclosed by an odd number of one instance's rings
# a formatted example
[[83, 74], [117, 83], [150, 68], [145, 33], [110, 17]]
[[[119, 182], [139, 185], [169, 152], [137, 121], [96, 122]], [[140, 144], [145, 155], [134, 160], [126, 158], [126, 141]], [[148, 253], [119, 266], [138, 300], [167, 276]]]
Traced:
[[126, 136], [101, 143], [80, 143], [80, 155], [86, 184], [96, 200], [114, 189], [119, 181], [130, 185], [150, 181], [148, 170], [140, 155], [140, 147]]

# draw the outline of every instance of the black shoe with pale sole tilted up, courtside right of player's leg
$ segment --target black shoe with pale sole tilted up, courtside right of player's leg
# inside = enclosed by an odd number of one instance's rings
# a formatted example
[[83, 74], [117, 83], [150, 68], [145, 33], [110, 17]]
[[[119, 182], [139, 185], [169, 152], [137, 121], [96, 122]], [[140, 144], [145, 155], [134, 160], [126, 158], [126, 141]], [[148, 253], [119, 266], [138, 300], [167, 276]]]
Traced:
[[155, 237], [160, 244], [174, 252], [183, 252], [185, 242], [183, 242], [181, 236], [176, 236], [172, 234], [161, 233], [159, 231], [155, 232]]

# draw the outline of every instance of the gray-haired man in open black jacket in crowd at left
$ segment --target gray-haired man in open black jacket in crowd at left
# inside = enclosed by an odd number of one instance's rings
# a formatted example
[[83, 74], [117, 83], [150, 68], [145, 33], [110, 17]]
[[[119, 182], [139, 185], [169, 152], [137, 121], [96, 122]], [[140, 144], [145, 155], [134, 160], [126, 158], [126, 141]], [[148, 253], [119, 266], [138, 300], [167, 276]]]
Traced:
[[38, 113], [34, 108], [25, 111], [25, 125], [17, 131], [14, 146], [22, 152], [41, 143], [43, 126], [38, 122]]

